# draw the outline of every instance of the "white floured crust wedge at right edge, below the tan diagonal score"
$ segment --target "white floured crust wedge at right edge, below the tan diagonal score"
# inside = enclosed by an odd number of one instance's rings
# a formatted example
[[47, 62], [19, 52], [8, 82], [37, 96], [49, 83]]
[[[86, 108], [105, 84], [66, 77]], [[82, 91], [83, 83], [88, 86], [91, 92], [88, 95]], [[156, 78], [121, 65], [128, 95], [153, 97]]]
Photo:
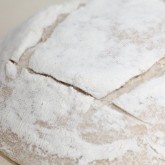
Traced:
[[114, 103], [137, 118], [152, 125], [148, 142], [165, 157], [165, 74], [151, 79]]

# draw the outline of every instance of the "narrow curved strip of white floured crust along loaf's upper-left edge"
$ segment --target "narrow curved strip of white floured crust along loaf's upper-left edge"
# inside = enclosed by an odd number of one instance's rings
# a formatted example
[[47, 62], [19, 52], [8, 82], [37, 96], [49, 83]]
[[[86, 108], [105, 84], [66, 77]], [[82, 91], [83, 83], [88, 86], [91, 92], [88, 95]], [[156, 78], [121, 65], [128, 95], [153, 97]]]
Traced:
[[[87, 0], [72, 0], [70, 3], [65, 3], [64, 5], [52, 6], [46, 11], [40, 12], [30, 18], [20, 28], [16, 29], [8, 39], [9, 41], [7, 41], [12, 44], [8, 50], [8, 53], [12, 54], [12, 59], [18, 62], [20, 56], [27, 48], [39, 42], [44, 28], [56, 22], [59, 15], [71, 13], [86, 1]], [[8, 44], [11, 45], [10, 43]]]

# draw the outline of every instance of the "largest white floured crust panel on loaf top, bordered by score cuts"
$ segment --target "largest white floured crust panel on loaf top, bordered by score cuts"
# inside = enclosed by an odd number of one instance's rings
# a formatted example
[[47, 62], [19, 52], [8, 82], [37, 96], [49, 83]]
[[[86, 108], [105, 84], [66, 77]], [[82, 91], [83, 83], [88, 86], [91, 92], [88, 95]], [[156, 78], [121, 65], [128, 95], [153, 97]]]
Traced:
[[105, 97], [163, 57], [164, 16], [161, 0], [91, 0], [35, 48], [29, 66]]

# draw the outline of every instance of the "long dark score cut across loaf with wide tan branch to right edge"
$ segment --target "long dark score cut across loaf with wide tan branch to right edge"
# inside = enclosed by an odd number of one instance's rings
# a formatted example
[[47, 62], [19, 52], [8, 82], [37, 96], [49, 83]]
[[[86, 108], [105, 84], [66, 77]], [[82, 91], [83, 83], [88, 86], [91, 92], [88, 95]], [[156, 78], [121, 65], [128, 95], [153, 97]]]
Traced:
[[[54, 81], [56, 81], [57, 83], [60, 83], [60, 84], [65, 85], [67, 87], [73, 87], [76, 91], [78, 91], [78, 92], [80, 92], [84, 95], [91, 96], [95, 100], [99, 100], [99, 99], [95, 98], [93, 95], [91, 95], [90, 93], [87, 93], [86, 91], [82, 90], [81, 88], [79, 88], [77, 86], [74, 86], [72, 84], [63, 82], [61, 80], [58, 80], [58, 79], [56, 79], [55, 77], [53, 77], [51, 75], [36, 72], [35, 70], [33, 70], [31, 68], [28, 68], [27, 65], [22, 65], [22, 62], [20, 64], [17, 64], [13, 60], [10, 60], [10, 62], [12, 62], [13, 64], [17, 65], [20, 68], [27, 69], [31, 74], [36, 74], [36, 75], [41, 75], [41, 76], [44, 76], [44, 77], [51, 78]], [[144, 72], [144, 73], [142, 73], [142, 74], [140, 74], [136, 77], [133, 77], [127, 83], [125, 83], [125, 85], [120, 87], [118, 90], [113, 91], [110, 95], [108, 95], [107, 97], [101, 99], [100, 101], [105, 103], [105, 105], [110, 104], [115, 110], [119, 111], [120, 113], [125, 114], [126, 116], [129, 116], [129, 117], [131, 117], [135, 120], [138, 120], [142, 123], [151, 125], [150, 123], [147, 123], [147, 122], [141, 120], [140, 118], [137, 118], [136, 116], [130, 114], [127, 110], [123, 110], [121, 107], [119, 107], [118, 105], [113, 103], [113, 100], [120, 97], [122, 94], [133, 90], [134, 88], [136, 88], [138, 85], [142, 84], [143, 82], [145, 82], [147, 80], [150, 80], [154, 77], [162, 75], [164, 72], [165, 72], [165, 58], [163, 57], [158, 62], [156, 62], [150, 69], [148, 69], [146, 72]]]

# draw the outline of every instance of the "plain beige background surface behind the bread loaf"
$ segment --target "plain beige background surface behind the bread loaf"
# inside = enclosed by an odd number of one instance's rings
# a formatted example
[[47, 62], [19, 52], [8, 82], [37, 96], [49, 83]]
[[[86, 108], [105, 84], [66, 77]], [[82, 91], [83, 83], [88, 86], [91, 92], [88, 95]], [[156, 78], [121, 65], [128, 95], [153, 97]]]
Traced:
[[[0, 0], [0, 38], [37, 11], [64, 0]], [[0, 154], [0, 165], [15, 165]]]

